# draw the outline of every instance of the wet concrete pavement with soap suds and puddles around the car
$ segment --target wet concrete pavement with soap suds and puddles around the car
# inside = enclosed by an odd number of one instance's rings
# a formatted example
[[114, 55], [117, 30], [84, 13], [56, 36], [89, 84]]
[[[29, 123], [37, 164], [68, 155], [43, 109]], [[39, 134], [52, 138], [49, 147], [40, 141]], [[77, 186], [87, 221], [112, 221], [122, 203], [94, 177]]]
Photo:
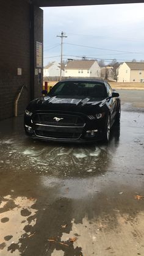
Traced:
[[0, 122], [1, 256], [144, 255], [144, 91], [134, 92], [120, 90], [108, 145], [33, 141], [23, 117]]

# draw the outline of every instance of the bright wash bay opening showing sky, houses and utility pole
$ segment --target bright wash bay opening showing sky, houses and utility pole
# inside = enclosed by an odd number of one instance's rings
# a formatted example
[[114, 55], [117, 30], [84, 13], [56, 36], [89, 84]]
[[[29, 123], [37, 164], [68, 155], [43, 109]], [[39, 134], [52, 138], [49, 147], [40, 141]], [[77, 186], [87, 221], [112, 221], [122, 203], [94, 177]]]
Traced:
[[43, 78], [50, 88], [64, 78], [144, 87], [143, 4], [48, 7], [43, 12]]

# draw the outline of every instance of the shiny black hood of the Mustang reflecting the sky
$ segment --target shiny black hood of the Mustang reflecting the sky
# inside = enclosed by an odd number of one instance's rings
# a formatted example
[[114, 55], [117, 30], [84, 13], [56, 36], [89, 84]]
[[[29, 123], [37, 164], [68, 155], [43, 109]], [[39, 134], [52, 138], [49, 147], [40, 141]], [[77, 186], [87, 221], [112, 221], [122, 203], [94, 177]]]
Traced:
[[71, 112], [93, 112], [96, 107], [101, 108], [106, 99], [96, 99], [90, 97], [43, 97], [31, 101], [28, 108], [31, 111], [71, 111]]

